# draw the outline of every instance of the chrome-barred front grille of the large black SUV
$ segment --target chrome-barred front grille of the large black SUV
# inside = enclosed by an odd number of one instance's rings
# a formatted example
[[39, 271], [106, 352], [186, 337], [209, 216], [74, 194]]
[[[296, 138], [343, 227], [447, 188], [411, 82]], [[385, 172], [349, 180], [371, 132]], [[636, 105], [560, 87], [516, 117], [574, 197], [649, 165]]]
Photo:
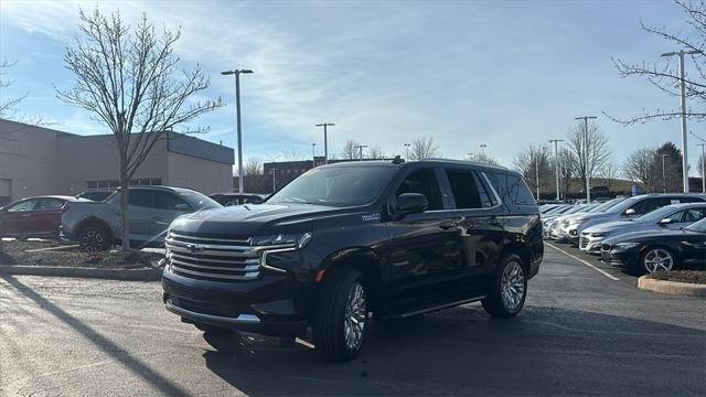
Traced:
[[250, 238], [202, 237], [170, 232], [167, 236], [169, 265], [176, 275], [208, 281], [256, 279], [260, 270], [260, 247]]

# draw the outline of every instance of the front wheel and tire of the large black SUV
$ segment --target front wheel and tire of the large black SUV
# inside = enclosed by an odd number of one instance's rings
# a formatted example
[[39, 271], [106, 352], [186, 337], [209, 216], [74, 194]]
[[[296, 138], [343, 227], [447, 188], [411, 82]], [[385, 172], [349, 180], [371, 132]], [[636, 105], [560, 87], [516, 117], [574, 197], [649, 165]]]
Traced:
[[330, 362], [354, 358], [367, 331], [367, 291], [360, 271], [331, 270], [321, 286], [312, 331], [317, 353]]

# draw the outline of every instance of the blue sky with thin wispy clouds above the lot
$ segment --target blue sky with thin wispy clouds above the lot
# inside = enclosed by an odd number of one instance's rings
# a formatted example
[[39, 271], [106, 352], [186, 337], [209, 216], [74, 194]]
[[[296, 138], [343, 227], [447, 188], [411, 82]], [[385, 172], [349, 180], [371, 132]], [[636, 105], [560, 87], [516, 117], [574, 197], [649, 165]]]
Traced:
[[[96, 2], [0, 2], [0, 57], [17, 60], [3, 97], [29, 93], [21, 111], [58, 122], [56, 129], [101, 133], [79, 108], [64, 105], [65, 46], [77, 33], [78, 8]], [[601, 115], [627, 117], [644, 108], [674, 108], [639, 78], [621, 79], [611, 57], [662, 62], [673, 44], [648, 35], [645, 23], [674, 30], [684, 15], [667, 1], [106, 1], [135, 21], [142, 11], [170, 30], [181, 28], [184, 66], [200, 63], [212, 86], [203, 95], [227, 106], [195, 122], [202, 138], [235, 146], [235, 100], [228, 68], [243, 77], [244, 157], [330, 152], [345, 140], [403, 153], [403, 143], [431, 136], [440, 152], [462, 158], [481, 143], [505, 165], [531, 143], [564, 138], [582, 115], [600, 116], [617, 163], [645, 146], [673, 140], [680, 124], [622, 127]], [[704, 126], [689, 129], [704, 135]], [[697, 147], [689, 142], [696, 164]], [[280, 157], [281, 159], [282, 157]]]

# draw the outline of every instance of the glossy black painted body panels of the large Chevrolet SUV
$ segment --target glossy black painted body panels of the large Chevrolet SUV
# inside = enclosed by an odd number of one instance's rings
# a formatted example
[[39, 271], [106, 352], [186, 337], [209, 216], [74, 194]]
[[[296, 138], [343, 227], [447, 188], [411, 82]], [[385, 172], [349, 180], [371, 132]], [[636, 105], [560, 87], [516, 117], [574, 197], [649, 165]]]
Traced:
[[[302, 249], [268, 257], [268, 265], [286, 272], [264, 269], [256, 280], [247, 282], [206, 281], [165, 271], [164, 300], [220, 316], [245, 313], [260, 319], [257, 325], [210, 322], [214, 325], [301, 335], [313, 314], [318, 281], [332, 267], [361, 269], [372, 294], [371, 310], [383, 316], [405, 316], [484, 297], [494, 279], [496, 264], [505, 253], [523, 259], [530, 278], [538, 272], [544, 253], [538, 208], [515, 205], [505, 186], [502, 191], [498, 189], [500, 185], [493, 176], [495, 173], [518, 176], [516, 173], [468, 162], [429, 160], [360, 167], [398, 169], [378, 197], [367, 205], [265, 203], [201, 212], [176, 219], [172, 230], [199, 236], [245, 238], [309, 232], [312, 238]], [[488, 178], [483, 183], [492, 182], [486, 187], [496, 192], [500, 202], [491, 208], [454, 210], [443, 167], [485, 173]], [[405, 178], [421, 168], [435, 170], [445, 210], [398, 218], [389, 212], [391, 202]], [[196, 320], [203, 321], [185, 319]]]

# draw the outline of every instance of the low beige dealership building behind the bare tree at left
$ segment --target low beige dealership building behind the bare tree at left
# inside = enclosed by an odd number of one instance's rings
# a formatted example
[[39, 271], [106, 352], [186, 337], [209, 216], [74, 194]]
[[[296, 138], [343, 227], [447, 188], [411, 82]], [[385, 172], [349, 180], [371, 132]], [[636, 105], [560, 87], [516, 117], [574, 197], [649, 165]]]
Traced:
[[[130, 183], [228, 192], [233, 163], [231, 148], [167, 132]], [[113, 189], [118, 180], [113, 135], [79, 136], [0, 119], [0, 205], [34, 195]]]

